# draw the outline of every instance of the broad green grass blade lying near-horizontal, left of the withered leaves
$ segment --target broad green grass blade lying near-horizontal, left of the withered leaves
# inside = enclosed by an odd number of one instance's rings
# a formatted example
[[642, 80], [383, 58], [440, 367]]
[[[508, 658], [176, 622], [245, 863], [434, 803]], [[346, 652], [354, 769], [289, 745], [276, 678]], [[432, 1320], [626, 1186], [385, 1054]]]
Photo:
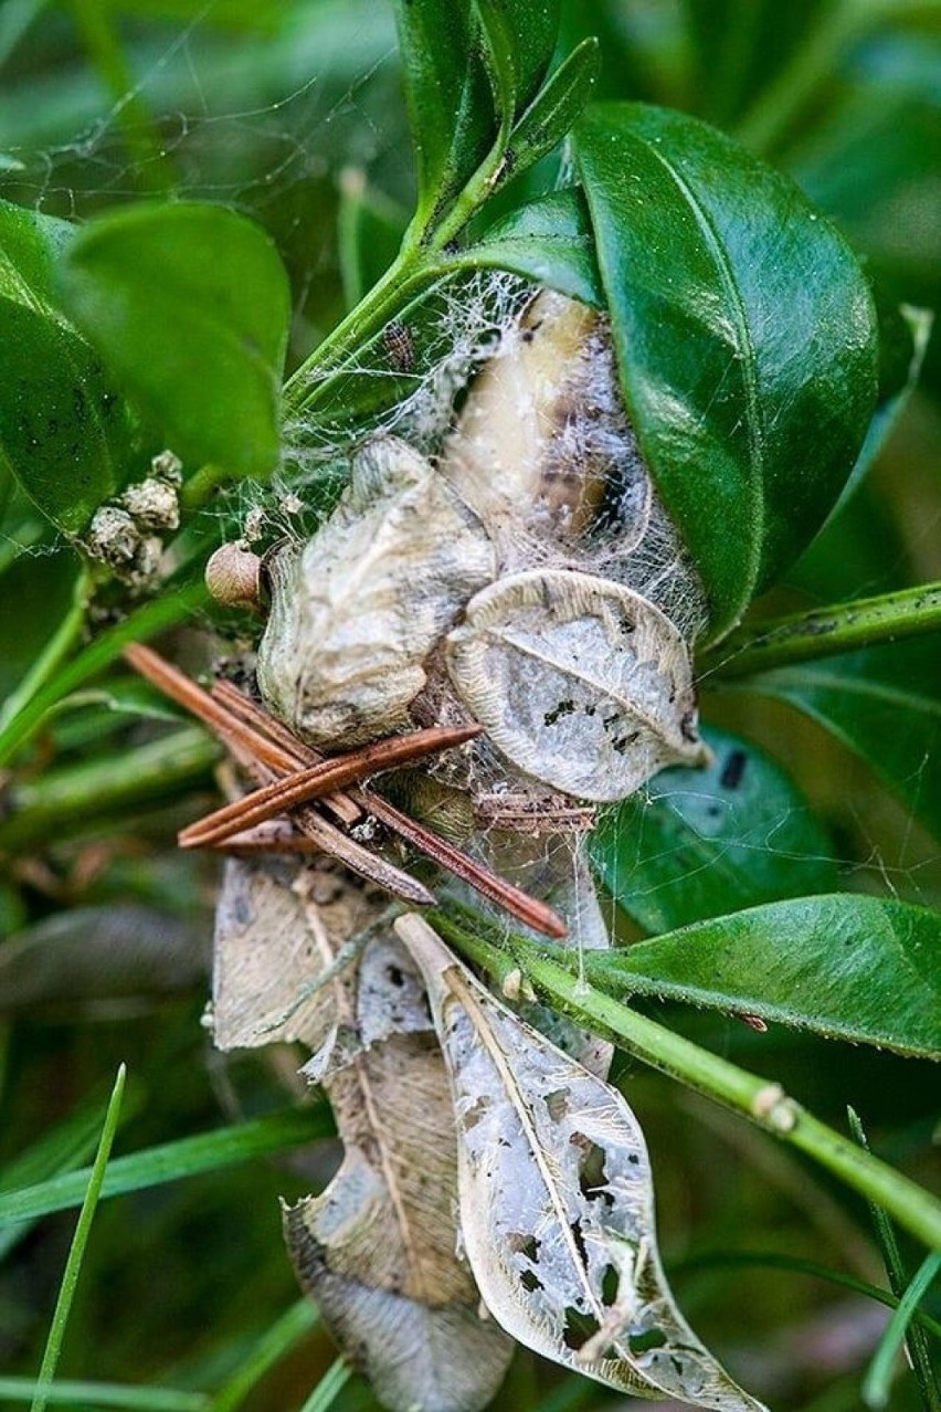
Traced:
[[[333, 1134], [333, 1120], [327, 1104], [299, 1111], [274, 1113], [253, 1118], [219, 1132], [200, 1132], [178, 1142], [145, 1148], [110, 1163], [102, 1185], [102, 1197], [123, 1196], [147, 1186], [178, 1182], [202, 1172], [217, 1172], [238, 1162], [271, 1156], [286, 1148], [313, 1142]], [[0, 1196], [0, 1226], [8, 1221], [31, 1220], [49, 1211], [63, 1211], [79, 1206], [89, 1179], [87, 1169], [68, 1172], [37, 1186]]]

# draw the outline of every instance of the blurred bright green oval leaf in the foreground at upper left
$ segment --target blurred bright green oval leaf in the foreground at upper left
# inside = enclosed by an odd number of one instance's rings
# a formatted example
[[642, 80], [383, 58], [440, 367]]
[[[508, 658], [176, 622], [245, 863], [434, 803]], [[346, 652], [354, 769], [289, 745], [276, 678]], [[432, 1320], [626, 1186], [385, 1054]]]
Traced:
[[274, 469], [291, 297], [262, 230], [221, 206], [128, 206], [76, 236], [59, 284], [190, 470]]

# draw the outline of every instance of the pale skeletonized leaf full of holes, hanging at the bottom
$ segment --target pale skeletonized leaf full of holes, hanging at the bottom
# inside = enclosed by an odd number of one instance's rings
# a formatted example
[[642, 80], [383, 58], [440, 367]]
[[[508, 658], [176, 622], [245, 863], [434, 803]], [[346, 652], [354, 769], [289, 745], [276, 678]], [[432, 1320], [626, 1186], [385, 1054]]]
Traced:
[[621, 1094], [494, 1000], [420, 918], [396, 931], [450, 1072], [464, 1245], [494, 1317], [625, 1392], [758, 1412], [673, 1302], [643, 1134]]

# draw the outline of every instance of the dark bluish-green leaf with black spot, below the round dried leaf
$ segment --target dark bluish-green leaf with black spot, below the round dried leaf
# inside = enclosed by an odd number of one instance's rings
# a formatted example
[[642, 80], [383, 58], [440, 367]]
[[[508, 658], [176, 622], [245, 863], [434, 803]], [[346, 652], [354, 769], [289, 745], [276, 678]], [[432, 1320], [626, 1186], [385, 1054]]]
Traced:
[[830, 840], [797, 786], [756, 746], [705, 727], [707, 770], [664, 770], [602, 815], [595, 873], [646, 932], [832, 891]]

